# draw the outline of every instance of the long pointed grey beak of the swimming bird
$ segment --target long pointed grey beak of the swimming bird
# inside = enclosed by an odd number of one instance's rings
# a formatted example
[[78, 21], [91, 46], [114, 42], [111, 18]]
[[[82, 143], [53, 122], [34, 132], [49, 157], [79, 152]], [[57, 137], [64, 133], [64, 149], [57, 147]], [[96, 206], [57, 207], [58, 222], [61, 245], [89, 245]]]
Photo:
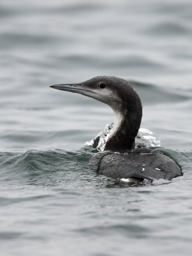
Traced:
[[90, 92], [90, 90], [83, 88], [82, 84], [54, 84], [49, 87], [57, 89], [57, 90], [61, 90], [61, 91], [76, 92], [76, 93], [81, 93], [81, 94]]

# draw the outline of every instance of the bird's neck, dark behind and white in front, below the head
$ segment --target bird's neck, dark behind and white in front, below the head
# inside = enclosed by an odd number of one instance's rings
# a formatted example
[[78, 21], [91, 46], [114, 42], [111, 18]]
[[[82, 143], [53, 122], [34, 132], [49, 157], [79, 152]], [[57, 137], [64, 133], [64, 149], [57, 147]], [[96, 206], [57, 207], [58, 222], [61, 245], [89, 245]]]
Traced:
[[127, 109], [124, 106], [120, 111], [115, 111], [115, 122], [104, 150], [125, 151], [134, 147], [134, 139], [140, 129], [142, 118], [141, 105], [135, 107]]

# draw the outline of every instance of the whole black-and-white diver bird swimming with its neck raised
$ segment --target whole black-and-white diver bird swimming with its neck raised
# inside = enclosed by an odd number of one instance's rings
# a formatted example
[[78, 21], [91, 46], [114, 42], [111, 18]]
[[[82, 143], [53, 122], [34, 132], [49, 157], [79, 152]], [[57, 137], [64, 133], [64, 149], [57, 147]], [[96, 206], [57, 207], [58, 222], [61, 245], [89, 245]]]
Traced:
[[168, 179], [182, 175], [181, 168], [164, 154], [149, 148], [134, 149], [142, 118], [141, 100], [132, 86], [118, 77], [99, 76], [77, 84], [51, 85], [62, 91], [80, 93], [108, 104], [115, 113], [113, 129], [100, 157], [97, 172], [119, 179]]

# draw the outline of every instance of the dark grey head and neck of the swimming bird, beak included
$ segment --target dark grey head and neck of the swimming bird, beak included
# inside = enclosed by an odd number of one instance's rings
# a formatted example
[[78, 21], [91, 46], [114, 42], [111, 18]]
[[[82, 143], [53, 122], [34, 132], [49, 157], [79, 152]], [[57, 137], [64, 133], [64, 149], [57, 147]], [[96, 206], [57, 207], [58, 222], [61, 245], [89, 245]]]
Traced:
[[141, 124], [141, 100], [134, 89], [124, 79], [98, 76], [77, 84], [56, 84], [55, 88], [75, 92], [108, 104], [115, 113], [113, 130], [109, 135], [105, 150], [129, 150]]

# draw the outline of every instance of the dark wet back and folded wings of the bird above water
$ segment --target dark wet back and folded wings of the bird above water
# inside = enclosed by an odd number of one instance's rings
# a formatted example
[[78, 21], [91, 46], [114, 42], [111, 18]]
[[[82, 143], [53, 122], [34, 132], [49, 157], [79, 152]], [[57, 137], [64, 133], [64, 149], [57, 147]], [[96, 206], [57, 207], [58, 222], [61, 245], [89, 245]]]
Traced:
[[168, 179], [182, 175], [180, 166], [159, 153], [110, 152], [100, 159], [99, 174], [113, 178]]

